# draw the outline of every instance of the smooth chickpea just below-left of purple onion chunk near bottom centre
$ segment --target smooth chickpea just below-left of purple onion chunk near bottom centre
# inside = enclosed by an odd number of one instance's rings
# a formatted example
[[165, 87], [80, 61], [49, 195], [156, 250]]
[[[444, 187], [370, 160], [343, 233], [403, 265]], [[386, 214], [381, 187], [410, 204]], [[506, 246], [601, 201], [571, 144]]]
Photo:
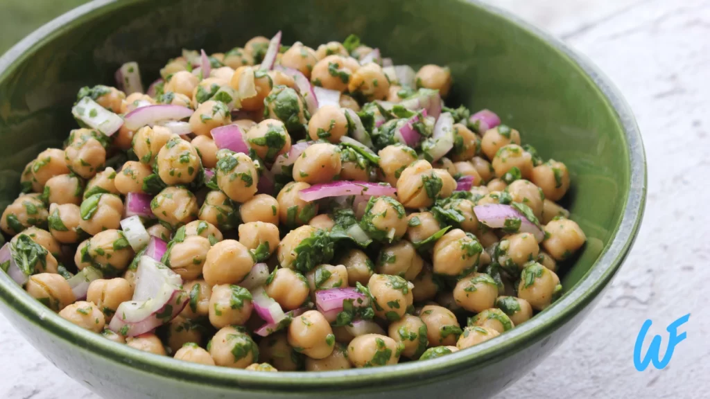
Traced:
[[324, 359], [333, 352], [335, 336], [320, 312], [308, 310], [288, 326], [288, 344], [312, 359]]

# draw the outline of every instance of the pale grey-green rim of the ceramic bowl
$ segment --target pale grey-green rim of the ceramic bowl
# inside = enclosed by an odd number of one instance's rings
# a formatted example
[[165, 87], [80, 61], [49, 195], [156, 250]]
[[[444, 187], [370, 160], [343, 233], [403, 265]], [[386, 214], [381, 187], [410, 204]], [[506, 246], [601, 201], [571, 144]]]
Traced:
[[[3, 80], [9, 72], [18, 67], [23, 60], [31, 57], [45, 42], [52, 40], [65, 30], [71, 29], [75, 23], [82, 21], [82, 19], [96, 18], [126, 4], [136, 4], [142, 1], [146, 0], [94, 0], [46, 23], [0, 57], [0, 80]], [[543, 339], [594, 301], [621, 267], [631, 246], [633, 246], [643, 219], [647, 190], [643, 142], [638, 125], [626, 100], [623, 99], [611, 80], [603, 75], [586, 57], [569, 48], [561, 40], [508, 11], [488, 4], [481, 4], [479, 1], [456, 1], [477, 9], [477, 12], [485, 12], [493, 18], [512, 22], [518, 28], [550, 46], [551, 50], [555, 50], [563, 58], [567, 58], [573, 67], [576, 67], [581, 75], [591, 82], [606, 105], [616, 112], [618, 127], [625, 133], [630, 173], [621, 222], [611, 233], [611, 239], [603, 248], [599, 258], [577, 285], [574, 285], [552, 306], [531, 319], [530, 322], [507, 332], [503, 336], [504, 339], [491, 339], [466, 351], [458, 351], [430, 361], [413, 361], [395, 366], [355, 368], [344, 371], [280, 371], [278, 378], [274, 378], [270, 373], [187, 363], [168, 356], [148, 354], [123, 344], [116, 344], [100, 337], [99, 334], [88, 332], [62, 319], [41, 305], [40, 302], [26, 295], [25, 291], [5, 273], [0, 273], [0, 300], [6, 305], [3, 310], [5, 311], [6, 308], [25, 317], [35, 327], [44, 329], [56, 339], [62, 339], [66, 344], [74, 346], [75, 350], [102, 356], [107, 361], [114, 362], [116, 367], [137, 368], [143, 373], [151, 373], [165, 378], [180, 376], [180, 379], [187, 383], [206, 384], [215, 388], [254, 391], [300, 390], [302, 392], [303, 390], [318, 391], [343, 388], [371, 390], [383, 385], [390, 388], [405, 383], [411, 385], [413, 378], [416, 378], [417, 385], [424, 384], [444, 374], [453, 376], [466, 373], [466, 368], [470, 366], [484, 366], [494, 363], [498, 359], [512, 354], [520, 347], [530, 346]]]

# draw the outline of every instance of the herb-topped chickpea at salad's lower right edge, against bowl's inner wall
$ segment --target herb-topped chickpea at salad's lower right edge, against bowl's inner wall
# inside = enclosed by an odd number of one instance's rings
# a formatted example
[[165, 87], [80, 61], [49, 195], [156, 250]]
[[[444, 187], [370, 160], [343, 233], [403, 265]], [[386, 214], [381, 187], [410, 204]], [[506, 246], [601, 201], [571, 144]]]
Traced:
[[532, 309], [545, 310], [561, 290], [557, 274], [540, 263], [531, 262], [520, 273], [518, 297], [527, 300]]

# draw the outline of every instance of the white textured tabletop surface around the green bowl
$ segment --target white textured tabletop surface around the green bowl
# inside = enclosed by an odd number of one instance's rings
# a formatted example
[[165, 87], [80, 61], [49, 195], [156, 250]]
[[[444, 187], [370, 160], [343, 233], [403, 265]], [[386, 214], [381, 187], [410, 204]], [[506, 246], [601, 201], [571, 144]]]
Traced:
[[[648, 157], [635, 247], [594, 312], [555, 354], [497, 398], [703, 398], [710, 388], [710, 1], [488, 0], [567, 40], [616, 82]], [[633, 366], [651, 334], [692, 313], [670, 366]], [[663, 344], [665, 349], [665, 341]], [[97, 399], [46, 361], [0, 315], [0, 398]]]

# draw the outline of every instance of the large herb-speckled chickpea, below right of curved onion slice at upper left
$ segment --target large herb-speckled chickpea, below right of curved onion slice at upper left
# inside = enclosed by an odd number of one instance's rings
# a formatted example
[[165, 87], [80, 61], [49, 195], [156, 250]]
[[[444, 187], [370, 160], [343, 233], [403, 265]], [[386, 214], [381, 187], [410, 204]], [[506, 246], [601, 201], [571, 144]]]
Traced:
[[[167, 185], [189, 184], [200, 174], [202, 163], [192, 144], [173, 135], [158, 152], [158, 175]], [[118, 188], [116, 181], [116, 188]]]

